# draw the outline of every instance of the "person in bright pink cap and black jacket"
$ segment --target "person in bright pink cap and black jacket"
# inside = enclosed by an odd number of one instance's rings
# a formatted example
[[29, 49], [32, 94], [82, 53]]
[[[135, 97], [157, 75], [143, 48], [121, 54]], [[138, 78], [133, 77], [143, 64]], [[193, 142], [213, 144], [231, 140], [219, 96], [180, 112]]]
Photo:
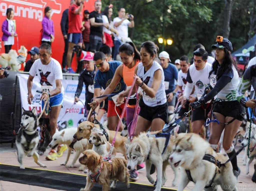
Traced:
[[94, 62], [93, 62], [94, 53], [83, 51], [83, 54], [84, 56], [80, 61], [83, 62], [84, 69], [80, 73], [80, 76], [78, 79], [77, 91], [75, 93], [74, 101], [75, 102], [79, 101], [79, 96], [81, 95], [81, 92], [83, 89], [83, 83], [84, 83], [86, 88], [85, 105], [86, 105], [87, 111], [89, 111], [91, 108], [88, 105], [88, 103], [91, 103], [91, 99], [93, 98], [93, 93], [94, 93], [94, 85], [93, 85], [93, 79], [95, 75], [95, 68], [94, 68]]

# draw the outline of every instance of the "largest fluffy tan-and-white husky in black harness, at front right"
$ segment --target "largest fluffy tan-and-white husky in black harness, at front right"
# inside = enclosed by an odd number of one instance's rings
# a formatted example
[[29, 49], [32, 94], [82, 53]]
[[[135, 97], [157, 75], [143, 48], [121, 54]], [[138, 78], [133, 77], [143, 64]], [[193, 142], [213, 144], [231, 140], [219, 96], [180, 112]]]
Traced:
[[205, 190], [217, 190], [217, 185], [221, 185], [223, 190], [237, 190], [237, 179], [233, 174], [231, 162], [218, 168], [214, 163], [203, 160], [203, 157], [208, 154], [223, 164], [228, 160], [226, 155], [216, 153], [210, 144], [197, 134], [180, 133], [176, 136], [170, 163], [175, 167], [180, 166], [181, 169], [179, 191], [182, 191], [189, 183], [188, 172], [195, 182], [193, 191], [202, 190], [210, 184], [211, 186]]

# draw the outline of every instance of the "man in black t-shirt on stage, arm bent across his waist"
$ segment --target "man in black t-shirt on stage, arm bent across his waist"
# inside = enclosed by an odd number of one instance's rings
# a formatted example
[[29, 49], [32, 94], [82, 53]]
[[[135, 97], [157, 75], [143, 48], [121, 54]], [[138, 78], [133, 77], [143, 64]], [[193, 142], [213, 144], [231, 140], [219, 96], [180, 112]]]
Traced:
[[[108, 23], [103, 23], [102, 15], [100, 13], [101, 10], [101, 1], [95, 1], [94, 3], [95, 10], [92, 11], [89, 15], [90, 23], [91, 23], [91, 31], [90, 31], [90, 51], [95, 52], [99, 51], [102, 43], [106, 42], [105, 37], [103, 35], [103, 27], [108, 28]], [[103, 42], [102, 42], [103, 37]]]

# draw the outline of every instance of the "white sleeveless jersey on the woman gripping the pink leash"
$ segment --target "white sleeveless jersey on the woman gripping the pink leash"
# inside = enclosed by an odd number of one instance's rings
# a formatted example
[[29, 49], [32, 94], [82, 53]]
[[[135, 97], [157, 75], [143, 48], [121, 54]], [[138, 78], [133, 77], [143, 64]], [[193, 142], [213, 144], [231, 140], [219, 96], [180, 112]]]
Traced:
[[163, 105], [166, 103], [167, 99], [166, 99], [166, 95], [165, 95], [165, 86], [164, 86], [164, 71], [162, 66], [157, 63], [156, 61], [153, 62], [153, 65], [151, 66], [151, 68], [146, 71], [146, 73], [144, 74], [144, 66], [142, 65], [142, 62], [140, 62], [138, 64], [138, 71], [137, 71], [137, 75], [142, 79], [142, 81], [148, 86], [148, 87], [152, 87], [152, 82], [154, 79], [154, 73], [156, 70], [160, 69], [161, 73], [162, 73], [162, 78], [161, 78], [161, 83], [160, 86], [156, 92], [155, 97], [150, 97], [148, 96], [141, 87], [138, 88], [138, 92], [142, 93], [143, 95], [143, 101], [147, 106], [150, 107], [155, 107], [158, 105]]

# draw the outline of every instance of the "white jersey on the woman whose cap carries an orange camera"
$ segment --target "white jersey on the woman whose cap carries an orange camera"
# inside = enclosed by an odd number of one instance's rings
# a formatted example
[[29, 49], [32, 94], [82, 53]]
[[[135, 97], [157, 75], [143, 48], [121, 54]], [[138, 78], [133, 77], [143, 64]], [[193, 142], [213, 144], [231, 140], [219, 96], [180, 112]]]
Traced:
[[[236, 98], [236, 90], [239, 84], [239, 75], [236, 68], [232, 65], [232, 71], [229, 72], [227, 75], [230, 76], [232, 79], [231, 81], [217, 94], [218, 101], [234, 101], [237, 100]], [[212, 72], [210, 76], [210, 85], [214, 87], [217, 83], [216, 75]]]

